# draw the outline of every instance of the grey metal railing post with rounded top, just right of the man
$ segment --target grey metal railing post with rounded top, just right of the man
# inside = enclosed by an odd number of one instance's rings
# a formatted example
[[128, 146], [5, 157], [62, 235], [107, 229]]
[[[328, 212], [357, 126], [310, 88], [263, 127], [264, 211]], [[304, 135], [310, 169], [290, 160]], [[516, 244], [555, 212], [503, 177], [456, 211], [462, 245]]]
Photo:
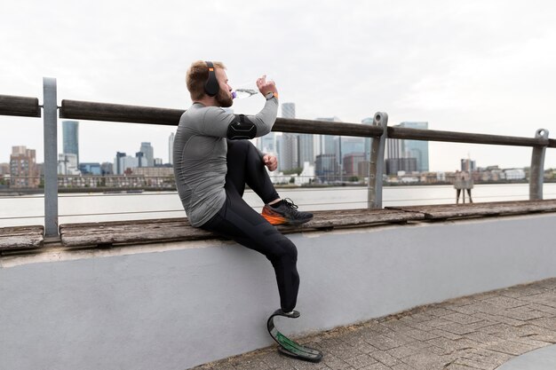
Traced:
[[380, 138], [371, 138], [369, 158], [369, 187], [368, 187], [368, 209], [382, 208], [382, 175], [385, 166], [385, 145], [388, 136], [388, 114], [377, 112], [373, 118], [373, 126], [383, 129]]

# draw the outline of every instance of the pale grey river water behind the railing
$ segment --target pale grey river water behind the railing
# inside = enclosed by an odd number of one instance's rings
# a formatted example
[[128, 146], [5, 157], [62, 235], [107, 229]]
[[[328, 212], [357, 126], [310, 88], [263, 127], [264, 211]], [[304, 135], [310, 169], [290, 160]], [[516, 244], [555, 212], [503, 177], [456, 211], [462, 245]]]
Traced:
[[[556, 184], [544, 184], [544, 199], [556, 199]], [[363, 209], [367, 207], [366, 187], [327, 187], [278, 189], [282, 198], [290, 198], [303, 210]], [[475, 185], [474, 202], [524, 201], [528, 184]], [[255, 193], [247, 191], [244, 199], [260, 211], [263, 204]], [[451, 185], [387, 186], [383, 206], [410, 206], [455, 203]], [[467, 201], [467, 198], [466, 198]], [[176, 192], [133, 194], [79, 193], [60, 194], [60, 224], [166, 218], [186, 216]], [[44, 224], [44, 196], [0, 197], [0, 227]]]

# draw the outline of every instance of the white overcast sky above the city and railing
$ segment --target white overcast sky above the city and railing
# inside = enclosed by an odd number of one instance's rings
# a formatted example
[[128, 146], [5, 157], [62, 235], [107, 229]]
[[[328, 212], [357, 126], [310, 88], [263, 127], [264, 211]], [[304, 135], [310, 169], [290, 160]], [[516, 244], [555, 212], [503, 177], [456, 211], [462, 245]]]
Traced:
[[[0, 10], [0, 94], [39, 98], [55, 77], [58, 99], [187, 109], [185, 74], [221, 60], [233, 87], [266, 73], [298, 118], [432, 130], [556, 138], [553, 1], [28, 1]], [[253, 114], [260, 96], [236, 101]], [[150, 141], [168, 161], [175, 127], [80, 122], [80, 161], [134, 155]], [[61, 136], [61, 129], [59, 130]], [[61, 144], [61, 142], [60, 142]], [[42, 120], [0, 116], [0, 162], [12, 146], [37, 150]], [[61, 146], [59, 148], [61, 153]], [[431, 143], [432, 170], [530, 164], [531, 149]], [[545, 167], [556, 168], [556, 149]]]

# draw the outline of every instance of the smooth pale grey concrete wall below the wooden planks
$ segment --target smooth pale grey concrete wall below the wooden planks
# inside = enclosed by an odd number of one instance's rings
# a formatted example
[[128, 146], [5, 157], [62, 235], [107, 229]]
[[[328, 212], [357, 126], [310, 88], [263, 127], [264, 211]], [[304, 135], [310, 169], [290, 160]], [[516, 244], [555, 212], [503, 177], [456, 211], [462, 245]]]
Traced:
[[[556, 276], [556, 215], [290, 235], [289, 334]], [[272, 344], [264, 256], [218, 241], [3, 257], [0, 369], [184, 370]], [[291, 324], [295, 323], [295, 326]]]

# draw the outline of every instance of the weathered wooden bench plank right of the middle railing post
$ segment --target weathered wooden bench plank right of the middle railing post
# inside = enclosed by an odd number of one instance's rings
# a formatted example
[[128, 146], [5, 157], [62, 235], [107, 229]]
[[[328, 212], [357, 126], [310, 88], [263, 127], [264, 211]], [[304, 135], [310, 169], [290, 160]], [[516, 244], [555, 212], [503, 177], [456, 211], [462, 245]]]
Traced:
[[388, 207], [388, 209], [422, 213], [427, 219], [445, 219], [470, 216], [515, 215], [530, 212], [556, 212], [556, 200], [439, 204], [431, 206]]

